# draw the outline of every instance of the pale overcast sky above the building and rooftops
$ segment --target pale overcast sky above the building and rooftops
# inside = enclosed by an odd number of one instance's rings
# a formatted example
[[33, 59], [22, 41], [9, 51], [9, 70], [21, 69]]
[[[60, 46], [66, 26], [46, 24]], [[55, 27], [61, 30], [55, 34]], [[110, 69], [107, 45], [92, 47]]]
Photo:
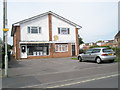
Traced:
[[[26, 1], [26, 2], [24, 2]], [[82, 28], [79, 35], [85, 43], [114, 39], [118, 32], [117, 0], [8, 0], [8, 43], [12, 44], [11, 26], [26, 18], [52, 11]], [[2, 1], [0, 21], [2, 21]], [[0, 22], [2, 37], [2, 22]]]

